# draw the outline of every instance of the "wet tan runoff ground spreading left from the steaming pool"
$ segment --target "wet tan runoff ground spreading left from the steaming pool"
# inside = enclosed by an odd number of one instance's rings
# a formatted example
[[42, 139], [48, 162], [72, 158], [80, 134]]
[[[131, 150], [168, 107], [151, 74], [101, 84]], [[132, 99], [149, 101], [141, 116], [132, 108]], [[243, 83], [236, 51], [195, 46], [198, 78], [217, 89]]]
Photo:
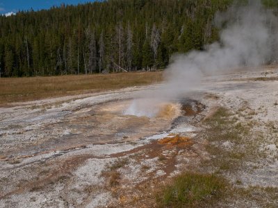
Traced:
[[[55, 150], [70, 150], [94, 144], [117, 144], [136, 141], [171, 128], [181, 111], [179, 104], [149, 119], [146, 116], [123, 115], [131, 101], [115, 101], [51, 112], [30, 110], [28, 118], [1, 121], [1, 159], [12, 160]], [[184, 101], [183, 101], [184, 103]], [[190, 106], [189, 101], [186, 106]], [[168, 106], [167, 105], [167, 106]], [[166, 105], [165, 105], [166, 106]], [[162, 109], [163, 110], [163, 109]], [[199, 109], [197, 109], [199, 112]]]

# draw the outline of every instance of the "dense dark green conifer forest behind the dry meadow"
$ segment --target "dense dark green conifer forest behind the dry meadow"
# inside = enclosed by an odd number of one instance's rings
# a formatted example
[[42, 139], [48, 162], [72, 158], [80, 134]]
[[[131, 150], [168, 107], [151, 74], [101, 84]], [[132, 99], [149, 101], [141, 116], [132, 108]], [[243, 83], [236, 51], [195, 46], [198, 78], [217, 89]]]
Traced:
[[1, 16], [2, 76], [163, 69], [173, 53], [218, 40], [213, 17], [231, 2], [108, 0]]

